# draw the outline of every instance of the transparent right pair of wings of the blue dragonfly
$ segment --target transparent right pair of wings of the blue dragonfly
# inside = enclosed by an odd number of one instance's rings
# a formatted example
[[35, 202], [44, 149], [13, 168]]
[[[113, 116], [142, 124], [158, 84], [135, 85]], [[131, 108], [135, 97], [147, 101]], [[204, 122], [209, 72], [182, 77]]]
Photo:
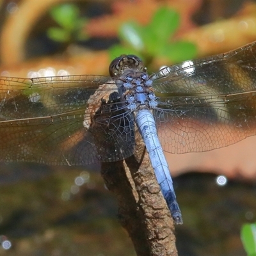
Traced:
[[202, 152], [256, 134], [256, 43], [154, 74], [164, 150]]

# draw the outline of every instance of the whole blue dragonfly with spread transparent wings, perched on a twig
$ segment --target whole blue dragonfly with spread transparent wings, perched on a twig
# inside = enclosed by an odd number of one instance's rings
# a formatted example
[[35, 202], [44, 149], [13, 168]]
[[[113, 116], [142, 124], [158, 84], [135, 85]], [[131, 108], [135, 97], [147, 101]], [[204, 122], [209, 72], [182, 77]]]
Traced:
[[137, 56], [122, 55], [109, 74], [1, 77], [0, 160], [120, 161], [134, 154], [138, 131], [173, 220], [181, 224], [163, 150], [204, 152], [256, 134], [256, 42], [152, 75]]

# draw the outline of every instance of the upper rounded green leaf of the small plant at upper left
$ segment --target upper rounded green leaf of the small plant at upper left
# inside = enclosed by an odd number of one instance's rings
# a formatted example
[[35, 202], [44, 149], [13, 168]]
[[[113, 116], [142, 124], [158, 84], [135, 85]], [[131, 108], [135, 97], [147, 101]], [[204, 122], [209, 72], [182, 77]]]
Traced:
[[79, 17], [79, 8], [75, 4], [61, 4], [51, 10], [52, 18], [63, 28], [74, 28]]

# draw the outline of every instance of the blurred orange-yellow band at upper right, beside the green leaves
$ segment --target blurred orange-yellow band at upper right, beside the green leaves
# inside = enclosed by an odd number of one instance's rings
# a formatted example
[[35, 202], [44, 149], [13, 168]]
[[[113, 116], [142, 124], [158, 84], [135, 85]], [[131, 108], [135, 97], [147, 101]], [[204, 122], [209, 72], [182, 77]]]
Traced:
[[244, 3], [231, 19], [191, 29], [180, 38], [198, 46], [198, 56], [227, 52], [256, 40], [256, 4]]

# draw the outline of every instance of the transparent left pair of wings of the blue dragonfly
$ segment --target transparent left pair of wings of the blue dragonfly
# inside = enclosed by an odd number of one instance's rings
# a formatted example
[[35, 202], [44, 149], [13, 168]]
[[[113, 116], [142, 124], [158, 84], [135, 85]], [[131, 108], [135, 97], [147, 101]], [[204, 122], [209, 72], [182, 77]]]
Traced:
[[1, 161], [86, 165], [131, 156], [133, 116], [109, 100], [111, 77], [1, 77], [0, 84]]

